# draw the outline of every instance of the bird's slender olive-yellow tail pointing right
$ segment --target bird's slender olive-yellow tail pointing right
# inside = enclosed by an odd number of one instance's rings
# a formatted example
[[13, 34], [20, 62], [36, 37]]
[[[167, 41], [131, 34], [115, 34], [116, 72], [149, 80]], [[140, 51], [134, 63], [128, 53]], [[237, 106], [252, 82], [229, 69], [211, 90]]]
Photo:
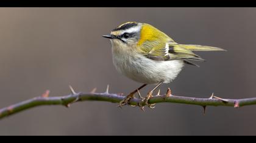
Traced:
[[191, 51], [227, 51], [227, 50], [224, 50], [223, 48], [211, 47], [207, 45], [190, 45], [190, 44], [180, 44], [180, 45]]

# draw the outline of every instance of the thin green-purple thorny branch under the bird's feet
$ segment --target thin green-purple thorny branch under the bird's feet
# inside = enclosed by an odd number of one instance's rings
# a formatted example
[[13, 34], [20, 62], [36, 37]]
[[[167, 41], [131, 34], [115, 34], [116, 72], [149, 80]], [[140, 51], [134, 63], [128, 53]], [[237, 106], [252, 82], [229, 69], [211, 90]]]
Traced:
[[[2, 108], [0, 109], [0, 119], [40, 105], [64, 105], [65, 107], [69, 107], [70, 104], [80, 101], [107, 101], [118, 103], [125, 98], [125, 96], [121, 94], [108, 93], [108, 86], [104, 93], [96, 93], [96, 88], [94, 88], [90, 93], [76, 93], [71, 86], [69, 86], [69, 88], [71, 90], [71, 95], [49, 97], [49, 90], [47, 90], [40, 97], [32, 98], [27, 101], [10, 105], [9, 107]], [[131, 99], [130, 105], [136, 106], [141, 102], [141, 100], [141, 98]], [[256, 105], [256, 98], [222, 99], [214, 95], [210, 98], [190, 98], [171, 95], [171, 90], [168, 88], [165, 95], [160, 95], [160, 91], [158, 91], [157, 95], [149, 100], [149, 104], [157, 104], [161, 102], [200, 105], [204, 108], [205, 113], [207, 106], [231, 106], [238, 108], [245, 105]]]

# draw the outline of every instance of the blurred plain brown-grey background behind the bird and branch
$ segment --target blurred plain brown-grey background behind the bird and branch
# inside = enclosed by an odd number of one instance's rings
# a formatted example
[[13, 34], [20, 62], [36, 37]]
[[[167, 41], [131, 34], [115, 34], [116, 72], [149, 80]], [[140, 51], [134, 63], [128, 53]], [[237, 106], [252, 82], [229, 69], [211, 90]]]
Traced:
[[[0, 107], [40, 96], [77, 91], [129, 93], [140, 84], [112, 65], [110, 41], [102, 35], [127, 21], [146, 22], [176, 42], [225, 48], [198, 53], [207, 62], [187, 65], [165, 84], [176, 95], [255, 97], [255, 8], [0, 8]], [[141, 92], [152, 88], [149, 86]], [[202, 107], [157, 104], [116, 108], [80, 102], [71, 108], [44, 106], [0, 121], [0, 135], [256, 135], [256, 106]]]

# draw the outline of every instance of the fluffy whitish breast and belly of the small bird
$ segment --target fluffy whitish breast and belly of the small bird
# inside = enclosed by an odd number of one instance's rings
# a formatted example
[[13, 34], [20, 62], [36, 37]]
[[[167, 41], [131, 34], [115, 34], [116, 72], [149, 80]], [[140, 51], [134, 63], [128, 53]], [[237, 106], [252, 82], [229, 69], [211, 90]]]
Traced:
[[154, 61], [138, 53], [112, 47], [113, 64], [119, 73], [143, 84], [169, 83], [180, 73], [182, 60]]

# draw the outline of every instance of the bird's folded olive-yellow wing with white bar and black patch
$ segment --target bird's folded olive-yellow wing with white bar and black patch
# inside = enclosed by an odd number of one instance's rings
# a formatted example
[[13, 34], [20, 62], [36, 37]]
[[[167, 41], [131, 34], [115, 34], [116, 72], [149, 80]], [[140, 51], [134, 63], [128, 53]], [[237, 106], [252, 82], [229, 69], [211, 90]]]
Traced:
[[147, 58], [157, 61], [169, 61], [173, 59], [190, 59], [196, 61], [205, 61], [200, 56], [191, 52], [188, 48], [177, 44], [176, 42], [166, 42], [165, 45], [152, 47], [149, 52], [144, 54]]

